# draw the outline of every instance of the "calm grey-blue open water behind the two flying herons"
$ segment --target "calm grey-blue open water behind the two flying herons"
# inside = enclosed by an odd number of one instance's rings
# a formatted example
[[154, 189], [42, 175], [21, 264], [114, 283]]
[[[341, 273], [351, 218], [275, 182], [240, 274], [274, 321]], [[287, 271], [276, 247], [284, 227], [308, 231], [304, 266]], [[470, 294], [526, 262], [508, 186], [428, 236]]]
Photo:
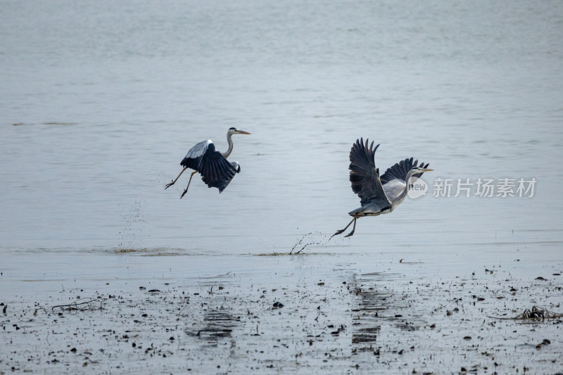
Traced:
[[[310, 232], [306, 251], [373, 268], [560, 268], [562, 40], [561, 1], [0, 1], [4, 277], [113, 274], [136, 253], [267, 270], [279, 260], [235, 255]], [[231, 126], [252, 135], [234, 137], [227, 190], [194, 177], [180, 200], [185, 175], [164, 190]], [[382, 170], [414, 156], [436, 172], [424, 198], [327, 243], [359, 205], [360, 136], [381, 143]], [[537, 184], [532, 198], [432, 196], [436, 178], [479, 177]]]

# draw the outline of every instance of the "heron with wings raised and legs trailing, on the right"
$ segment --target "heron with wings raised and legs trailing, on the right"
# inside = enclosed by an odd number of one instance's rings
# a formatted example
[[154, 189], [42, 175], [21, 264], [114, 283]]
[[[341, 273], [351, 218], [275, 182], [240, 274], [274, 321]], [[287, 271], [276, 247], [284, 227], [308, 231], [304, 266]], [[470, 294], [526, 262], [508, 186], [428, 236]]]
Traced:
[[343, 233], [352, 223], [352, 231], [345, 237], [352, 236], [356, 229], [358, 217], [378, 216], [393, 212], [405, 200], [413, 177], [421, 177], [424, 172], [430, 172], [428, 163], [418, 164], [418, 160], [407, 158], [389, 167], [381, 177], [379, 168], [375, 166], [375, 151], [379, 147], [374, 142], [368, 146], [369, 139], [357, 139], [350, 150], [350, 183], [352, 190], [360, 197], [362, 207], [348, 212], [353, 219], [346, 228], [331, 236]]

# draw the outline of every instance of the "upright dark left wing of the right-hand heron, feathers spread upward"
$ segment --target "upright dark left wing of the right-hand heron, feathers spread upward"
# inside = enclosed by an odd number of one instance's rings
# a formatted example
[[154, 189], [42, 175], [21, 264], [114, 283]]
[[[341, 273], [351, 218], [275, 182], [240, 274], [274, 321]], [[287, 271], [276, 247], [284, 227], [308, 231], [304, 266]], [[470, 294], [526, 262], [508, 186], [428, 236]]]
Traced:
[[391, 202], [385, 195], [379, 179], [379, 169], [375, 167], [375, 151], [379, 144], [368, 146], [369, 140], [358, 139], [350, 150], [350, 183], [352, 190], [360, 197], [360, 203], [375, 203], [380, 201], [381, 208], [391, 207]]

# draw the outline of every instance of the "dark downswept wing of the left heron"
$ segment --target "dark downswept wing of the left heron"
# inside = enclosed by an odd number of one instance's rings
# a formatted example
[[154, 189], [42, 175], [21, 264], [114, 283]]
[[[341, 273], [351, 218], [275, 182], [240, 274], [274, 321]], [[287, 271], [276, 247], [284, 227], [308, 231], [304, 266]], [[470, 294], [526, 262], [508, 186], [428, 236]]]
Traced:
[[201, 179], [208, 187], [216, 187], [221, 193], [233, 179], [236, 168], [222, 153], [215, 151], [213, 143], [209, 144], [200, 161], [198, 172]]

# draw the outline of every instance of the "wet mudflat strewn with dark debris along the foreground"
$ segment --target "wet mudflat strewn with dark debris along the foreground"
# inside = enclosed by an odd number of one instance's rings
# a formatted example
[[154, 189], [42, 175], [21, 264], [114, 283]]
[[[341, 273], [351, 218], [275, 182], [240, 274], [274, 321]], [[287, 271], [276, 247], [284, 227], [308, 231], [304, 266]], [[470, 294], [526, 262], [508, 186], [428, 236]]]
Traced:
[[[107, 286], [87, 298], [67, 288], [46, 300], [4, 300], [0, 371], [540, 374], [563, 366], [557, 284], [545, 293], [514, 279], [407, 281], [378, 272], [291, 281], [256, 286], [226, 274]], [[550, 310], [510, 318], [532, 303]]]

